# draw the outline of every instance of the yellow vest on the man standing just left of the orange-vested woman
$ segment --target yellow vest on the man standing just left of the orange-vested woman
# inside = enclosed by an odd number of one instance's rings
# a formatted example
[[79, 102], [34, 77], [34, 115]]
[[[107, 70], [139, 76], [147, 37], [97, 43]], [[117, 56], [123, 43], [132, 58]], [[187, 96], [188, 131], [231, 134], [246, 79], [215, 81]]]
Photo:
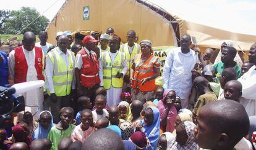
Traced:
[[128, 48], [128, 43], [122, 44], [120, 47], [120, 51], [126, 53], [126, 60], [127, 60], [127, 73], [130, 75], [130, 68], [132, 67], [132, 60], [134, 59], [135, 55], [140, 52], [140, 45], [134, 43], [134, 49], [132, 49], [132, 53], [130, 53]]

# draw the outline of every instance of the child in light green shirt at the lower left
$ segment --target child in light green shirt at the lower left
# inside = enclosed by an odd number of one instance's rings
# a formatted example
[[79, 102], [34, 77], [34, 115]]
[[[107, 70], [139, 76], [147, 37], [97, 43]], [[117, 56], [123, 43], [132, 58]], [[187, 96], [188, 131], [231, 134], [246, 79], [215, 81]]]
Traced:
[[53, 145], [51, 149], [58, 149], [59, 141], [64, 137], [70, 137], [75, 125], [70, 124], [74, 116], [74, 109], [70, 107], [64, 107], [61, 109], [60, 117], [61, 121], [53, 126], [48, 134], [48, 139], [51, 140]]

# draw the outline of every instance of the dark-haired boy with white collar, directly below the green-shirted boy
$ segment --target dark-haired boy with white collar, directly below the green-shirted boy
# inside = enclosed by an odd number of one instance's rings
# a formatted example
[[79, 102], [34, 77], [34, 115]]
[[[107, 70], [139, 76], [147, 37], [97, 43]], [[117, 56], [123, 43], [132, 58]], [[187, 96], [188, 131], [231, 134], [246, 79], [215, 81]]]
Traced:
[[220, 89], [218, 100], [225, 100], [224, 90], [223, 90], [224, 86], [226, 82], [231, 80], [236, 80], [236, 77], [237, 77], [236, 70], [234, 68], [226, 68], [222, 71], [221, 77], [220, 77], [221, 89]]

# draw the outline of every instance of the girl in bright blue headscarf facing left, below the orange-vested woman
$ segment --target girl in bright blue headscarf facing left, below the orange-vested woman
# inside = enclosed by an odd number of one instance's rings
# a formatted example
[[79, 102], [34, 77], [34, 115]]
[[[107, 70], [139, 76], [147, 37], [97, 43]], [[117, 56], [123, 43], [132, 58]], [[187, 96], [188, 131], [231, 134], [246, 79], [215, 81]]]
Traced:
[[[145, 133], [150, 145], [146, 149], [156, 149], [160, 135], [160, 112], [155, 107], [150, 107], [145, 111], [145, 119], [141, 121], [142, 132]], [[140, 126], [141, 127], [141, 126]]]

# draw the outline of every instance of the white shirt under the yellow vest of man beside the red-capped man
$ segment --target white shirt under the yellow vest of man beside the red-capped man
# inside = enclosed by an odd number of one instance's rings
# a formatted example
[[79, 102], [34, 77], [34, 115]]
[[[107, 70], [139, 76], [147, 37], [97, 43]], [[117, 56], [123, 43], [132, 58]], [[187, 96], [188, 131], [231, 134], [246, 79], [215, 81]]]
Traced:
[[[112, 64], [114, 63], [114, 58], [116, 58], [117, 52], [119, 52], [119, 51], [116, 51], [116, 53], [111, 53], [110, 51], [108, 51], [110, 58], [112, 60]], [[127, 60], [124, 60], [124, 62], [122, 63], [121, 73], [126, 74], [126, 72], [127, 72]], [[103, 86], [103, 65], [102, 65], [101, 58], [99, 61], [99, 76], [100, 76], [100, 86]]]

